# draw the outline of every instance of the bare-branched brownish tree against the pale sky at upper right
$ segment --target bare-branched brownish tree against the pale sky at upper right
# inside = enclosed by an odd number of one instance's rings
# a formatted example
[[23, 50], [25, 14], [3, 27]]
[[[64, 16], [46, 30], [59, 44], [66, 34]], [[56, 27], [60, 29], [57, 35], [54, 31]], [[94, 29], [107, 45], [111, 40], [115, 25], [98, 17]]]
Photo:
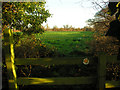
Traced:
[[[99, 34], [104, 34], [110, 27], [109, 23], [113, 20], [115, 20], [115, 16], [108, 15], [108, 2], [101, 1], [98, 2], [92, 2], [93, 8], [99, 9], [99, 11], [94, 15], [93, 19], [89, 19], [87, 21], [88, 25], [93, 26], [94, 30], [97, 31]], [[101, 4], [102, 3], [102, 4]]]

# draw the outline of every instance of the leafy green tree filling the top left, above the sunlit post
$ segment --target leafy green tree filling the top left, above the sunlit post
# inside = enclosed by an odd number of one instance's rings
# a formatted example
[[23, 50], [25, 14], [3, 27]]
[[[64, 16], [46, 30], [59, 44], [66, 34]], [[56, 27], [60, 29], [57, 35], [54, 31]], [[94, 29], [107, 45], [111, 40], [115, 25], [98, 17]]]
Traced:
[[27, 34], [42, 33], [41, 24], [50, 13], [42, 2], [3, 2], [2, 27], [16, 28]]

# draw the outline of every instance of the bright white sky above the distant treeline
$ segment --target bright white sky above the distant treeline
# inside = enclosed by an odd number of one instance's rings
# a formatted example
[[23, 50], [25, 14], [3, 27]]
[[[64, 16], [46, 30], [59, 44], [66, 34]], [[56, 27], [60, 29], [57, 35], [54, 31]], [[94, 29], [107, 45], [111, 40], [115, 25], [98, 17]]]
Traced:
[[48, 24], [50, 28], [61, 28], [63, 25], [83, 28], [87, 25], [86, 21], [93, 18], [97, 12], [89, 0], [46, 0], [46, 9], [52, 17], [48, 18], [43, 26]]

